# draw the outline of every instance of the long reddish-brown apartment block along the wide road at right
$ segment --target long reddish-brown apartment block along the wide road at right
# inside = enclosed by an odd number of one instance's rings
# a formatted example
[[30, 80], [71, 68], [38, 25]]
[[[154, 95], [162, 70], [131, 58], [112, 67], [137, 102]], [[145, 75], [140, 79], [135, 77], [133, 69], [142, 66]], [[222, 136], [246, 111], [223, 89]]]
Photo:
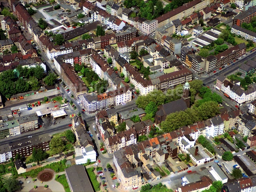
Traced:
[[226, 65], [227, 63], [233, 61], [234, 59], [244, 55], [245, 52], [246, 52], [245, 43], [241, 43], [239, 45], [236, 45], [234, 47], [227, 49], [226, 51], [223, 51], [222, 53], [215, 56], [218, 58], [217, 68], [222, 67], [223, 65]]

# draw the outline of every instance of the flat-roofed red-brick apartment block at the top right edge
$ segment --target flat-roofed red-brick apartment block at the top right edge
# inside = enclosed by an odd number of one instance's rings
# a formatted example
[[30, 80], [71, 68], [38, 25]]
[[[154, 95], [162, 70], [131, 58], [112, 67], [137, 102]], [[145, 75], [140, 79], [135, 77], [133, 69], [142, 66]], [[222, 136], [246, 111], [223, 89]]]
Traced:
[[250, 23], [254, 16], [256, 16], [256, 7], [250, 7], [250, 9], [234, 16], [233, 25], [240, 26], [244, 22]]

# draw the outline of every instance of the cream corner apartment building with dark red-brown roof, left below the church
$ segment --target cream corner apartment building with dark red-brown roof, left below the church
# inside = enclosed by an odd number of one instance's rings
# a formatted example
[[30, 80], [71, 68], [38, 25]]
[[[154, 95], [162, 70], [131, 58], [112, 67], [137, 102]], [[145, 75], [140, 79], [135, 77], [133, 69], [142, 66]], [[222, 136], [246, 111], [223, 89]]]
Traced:
[[125, 146], [136, 144], [137, 143], [136, 130], [129, 129], [126, 131], [119, 132], [116, 135], [106, 138], [104, 143], [106, 146], [106, 150], [109, 153], [113, 153]]

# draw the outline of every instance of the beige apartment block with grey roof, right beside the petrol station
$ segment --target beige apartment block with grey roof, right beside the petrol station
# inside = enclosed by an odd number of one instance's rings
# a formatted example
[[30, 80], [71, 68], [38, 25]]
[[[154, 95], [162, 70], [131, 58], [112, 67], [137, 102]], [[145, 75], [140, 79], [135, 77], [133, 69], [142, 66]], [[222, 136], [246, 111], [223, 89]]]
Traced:
[[34, 131], [38, 128], [38, 116], [36, 114], [20, 116], [17, 121], [21, 132]]

